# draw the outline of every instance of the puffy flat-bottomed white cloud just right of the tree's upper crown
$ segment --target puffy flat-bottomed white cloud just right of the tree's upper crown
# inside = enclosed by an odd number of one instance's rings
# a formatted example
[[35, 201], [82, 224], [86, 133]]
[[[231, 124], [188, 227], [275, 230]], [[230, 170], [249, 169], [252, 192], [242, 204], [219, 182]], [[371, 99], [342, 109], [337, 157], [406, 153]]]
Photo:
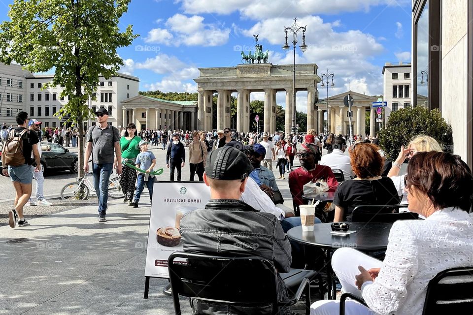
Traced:
[[205, 24], [203, 16], [174, 14], [165, 23], [167, 29], [156, 28], [148, 32], [147, 43], [174, 46], [219, 46], [228, 41], [230, 31], [216, 24]]

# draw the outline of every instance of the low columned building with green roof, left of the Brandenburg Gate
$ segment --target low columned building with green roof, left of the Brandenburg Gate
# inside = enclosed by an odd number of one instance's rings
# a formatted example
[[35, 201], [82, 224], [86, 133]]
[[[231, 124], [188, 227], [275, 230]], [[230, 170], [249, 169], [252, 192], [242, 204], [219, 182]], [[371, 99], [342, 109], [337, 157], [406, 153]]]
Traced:
[[122, 102], [123, 126], [142, 129], [197, 130], [197, 101], [170, 101], [137, 95]]

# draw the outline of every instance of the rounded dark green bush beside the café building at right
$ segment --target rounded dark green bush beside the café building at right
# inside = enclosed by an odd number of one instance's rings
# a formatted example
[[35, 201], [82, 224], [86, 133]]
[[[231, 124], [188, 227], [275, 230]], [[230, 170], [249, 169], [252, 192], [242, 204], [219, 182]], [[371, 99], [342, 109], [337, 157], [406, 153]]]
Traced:
[[386, 126], [379, 131], [379, 144], [388, 158], [398, 156], [401, 146], [413, 137], [426, 134], [436, 139], [446, 152], [453, 152], [452, 126], [438, 110], [416, 106], [391, 112]]

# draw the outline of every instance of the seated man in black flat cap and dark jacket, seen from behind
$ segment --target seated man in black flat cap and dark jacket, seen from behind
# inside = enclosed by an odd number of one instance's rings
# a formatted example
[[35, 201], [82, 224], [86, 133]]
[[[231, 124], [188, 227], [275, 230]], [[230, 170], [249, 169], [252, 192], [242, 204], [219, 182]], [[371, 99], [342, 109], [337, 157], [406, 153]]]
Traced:
[[[180, 233], [184, 252], [231, 257], [262, 256], [272, 261], [278, 272], [289, 272], [291, 244], [277, 218], [238, 200], [252, 170], [247, 156], [236, 148], [223, 147], [210, 152], [203, 174], [205, 185], [210, 187], [210, 200], [205, 209], [192, 211], [182, 218]], [[279, 275], [277, 277], [281, 301], [288, 294], [284, 281]], [[195, 300], [193, 309], [194, 314], [250, 312], [247, 307], [203, 300]], [[272, 314], [271, 311], [271, 306], [254, 310], [257, 314]], [[290, 314], [290, 310], [281, 308], [278, 314]]]

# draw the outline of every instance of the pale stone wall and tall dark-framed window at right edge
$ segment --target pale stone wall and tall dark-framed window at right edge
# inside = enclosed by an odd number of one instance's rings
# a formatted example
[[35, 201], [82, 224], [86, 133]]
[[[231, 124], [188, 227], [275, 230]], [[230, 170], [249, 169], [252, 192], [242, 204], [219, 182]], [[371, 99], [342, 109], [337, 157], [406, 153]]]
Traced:
[[425, 103], [451, 124], [453, 152], [472, 168], [473, 1], [413, 0], [412, 5], [414, 94], [427, 79]]

